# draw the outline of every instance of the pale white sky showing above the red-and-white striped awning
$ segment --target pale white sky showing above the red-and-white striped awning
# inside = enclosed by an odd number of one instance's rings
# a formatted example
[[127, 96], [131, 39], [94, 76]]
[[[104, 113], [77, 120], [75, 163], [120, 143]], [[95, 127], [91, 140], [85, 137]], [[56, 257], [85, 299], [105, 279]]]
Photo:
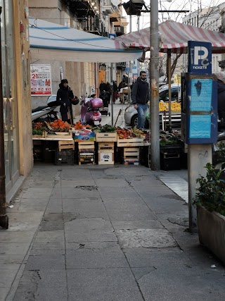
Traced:
[[[122, 2], [128, 2], [129, 0], [124, 0]], [[217, 6], [218, 4], [224, 3], [225, 0], [172, 0], [172, 2], [167, 2], [166, 0], [158, 0], [159, 10], [189, 10], [196, 11], [198, 7], [207, 8], [209, 6]], [[150, 0], [145, 0], [146, 6], [150, 6]], [[168, 18], [175, 20], [176, 22], [182, 22], [182, 18], [187, 16], [188, 13], [159, 13], [159, 23], [167, 20]], [[127, 22], [129, 22], [130, 16], [123, 9], [123, 16], [127, 17]], [[150, 13], [141, 13], [139, 18], [140, 30], [150, 26]], [[130, 31], [130, 26], [127, 25], [127, 33]], [[136, 16], [131, 16], [131, 31], [138, 30], [138, 21]]]

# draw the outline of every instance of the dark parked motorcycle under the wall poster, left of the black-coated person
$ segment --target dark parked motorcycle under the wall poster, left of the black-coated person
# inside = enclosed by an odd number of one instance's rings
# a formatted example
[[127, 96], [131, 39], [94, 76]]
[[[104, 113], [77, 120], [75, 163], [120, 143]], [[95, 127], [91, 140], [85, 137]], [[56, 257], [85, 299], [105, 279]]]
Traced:
[[47, 106], [38, 106], [37, 108], [32, 109], [32, 121], [51, 122], [59, 119], [58, 111], [56, 111], [57, 106], [58, 102], [56, 102], [56, 95], [50, 95], [47, 99]]

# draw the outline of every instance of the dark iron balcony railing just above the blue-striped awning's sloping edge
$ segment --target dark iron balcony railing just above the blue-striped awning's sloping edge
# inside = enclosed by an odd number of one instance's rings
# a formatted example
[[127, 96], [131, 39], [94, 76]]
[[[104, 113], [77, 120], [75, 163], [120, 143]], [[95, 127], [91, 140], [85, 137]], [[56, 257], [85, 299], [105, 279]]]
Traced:
[[86, 32], [92, 32], [96, 35], [103, 35], [103, 37], [107, 36], [107, 32], [105, 32], [105, 26], [98, 17], [88, 17], [83, 20], [82, 29]]

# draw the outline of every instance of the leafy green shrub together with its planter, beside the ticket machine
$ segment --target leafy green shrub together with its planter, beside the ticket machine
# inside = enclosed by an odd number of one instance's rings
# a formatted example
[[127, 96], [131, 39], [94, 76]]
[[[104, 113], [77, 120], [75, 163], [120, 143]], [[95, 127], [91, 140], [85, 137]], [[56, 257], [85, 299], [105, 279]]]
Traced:
[[205, 168], [206, 176], [196, 180], [194, 199], [199, 240], [225, 264], [225, 180], [221, 178], [224, 170], [217, 170], [210, 163]]

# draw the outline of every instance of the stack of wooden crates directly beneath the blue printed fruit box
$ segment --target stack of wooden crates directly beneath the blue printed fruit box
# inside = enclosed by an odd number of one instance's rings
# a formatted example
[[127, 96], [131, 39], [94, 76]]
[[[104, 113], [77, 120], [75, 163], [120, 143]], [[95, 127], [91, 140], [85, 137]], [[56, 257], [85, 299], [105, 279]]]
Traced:
[[78, 142], [78, 161], [82, 164], [95, 164], [94, 141]]

